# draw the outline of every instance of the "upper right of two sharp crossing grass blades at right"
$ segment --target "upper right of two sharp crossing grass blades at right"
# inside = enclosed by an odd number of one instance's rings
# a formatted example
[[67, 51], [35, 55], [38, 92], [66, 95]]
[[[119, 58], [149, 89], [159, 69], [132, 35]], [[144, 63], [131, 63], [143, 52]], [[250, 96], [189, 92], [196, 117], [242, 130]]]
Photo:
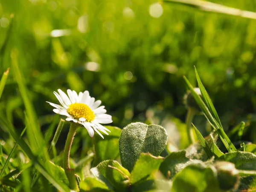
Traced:
[[[195, 66], [194, 66], [195, 67]], [[222, 125], [221, 125], [221, 120], [220, 118], [218, 117], [218, 113], [215, 109], [215, 107], [213, 106], [213, 103], [212, 103], [212, 100], [210, 99], [206, 89], [204, 88], [204, 85], [198, 75], [198, 72], [195, 68], [195, 76], [196, 76], [196, 79], [198, 81], [198, 87], [201, 91], [201, 94], [202, 94], [202, 97], [203, 97], [203, 100], [204, 100], [204, 103], [206, 104], [207, 108], [209, 109], [210, 113], [212, 114], [213, 118], [218, 122], [218, 124], [220, 125], [220, 128], [223, 129]]]

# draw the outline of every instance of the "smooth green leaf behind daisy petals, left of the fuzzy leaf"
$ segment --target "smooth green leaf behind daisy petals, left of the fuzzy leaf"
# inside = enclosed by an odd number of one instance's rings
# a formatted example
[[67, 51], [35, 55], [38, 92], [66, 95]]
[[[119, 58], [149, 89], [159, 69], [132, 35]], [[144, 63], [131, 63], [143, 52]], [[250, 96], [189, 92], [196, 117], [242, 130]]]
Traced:
[[108, 159], [116, 159], [119, 155], [119, 138], [122, 130], [118, 127], [106, 126], [111, 133], [105, 139], [98, 134], [93, 137], [95, 159], [94, 166]]

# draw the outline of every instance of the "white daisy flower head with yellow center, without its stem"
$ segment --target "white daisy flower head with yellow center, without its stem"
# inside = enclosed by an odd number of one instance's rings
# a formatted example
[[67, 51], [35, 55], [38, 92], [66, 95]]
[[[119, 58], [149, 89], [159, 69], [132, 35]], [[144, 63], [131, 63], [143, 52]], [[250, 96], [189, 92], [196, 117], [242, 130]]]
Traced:
[[70, 89], [67, 90], [67, 94], [60, 89], [58, 89], [58, 92], [59, 94], [55, 91], [53, 93], [62, 106], [48, 102], [56, 108], [53, 109], [55, 113], [67, 116], [67, 121], [73, 121], [84, 125], [90, 137], [93, 137], [94, 131], [96, 131], [103, 139], [104, 137], [99, 131], [108, 135], [107, 131], [109, 130], [100, 123], [111, 123], [112, 117], [111, 115], [105, 114], [107, 112], [104, 109], [105, 106], [99, 107], [101, 104], [100, 100], [95, 101], [95, 98], [90, 97], [87, 90], [84, 91], [84, 93], [80, 92], [79, 94]]

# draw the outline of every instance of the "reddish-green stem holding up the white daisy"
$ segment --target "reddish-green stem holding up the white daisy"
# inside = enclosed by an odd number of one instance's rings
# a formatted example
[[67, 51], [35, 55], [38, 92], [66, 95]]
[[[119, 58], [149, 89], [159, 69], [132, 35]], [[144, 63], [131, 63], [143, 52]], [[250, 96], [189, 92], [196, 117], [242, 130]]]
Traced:
[[70, 183], [70, 189], [79, 191], [79, 188], [76, 182], [75, 171], [74, 169], [70, 168], [70, 163], [69, 163], [70, 149], [71, 149], [74, 136], [76, 134], [76, 128], [77, 128], [76, 124], [74, 123], [70, 124], [70, 130], [68, 132], [67, 140], [64, 148], [63, 166], [64, 166], [65, 173], [67, 175], [67, 179], [69, 180], [69, 183]]

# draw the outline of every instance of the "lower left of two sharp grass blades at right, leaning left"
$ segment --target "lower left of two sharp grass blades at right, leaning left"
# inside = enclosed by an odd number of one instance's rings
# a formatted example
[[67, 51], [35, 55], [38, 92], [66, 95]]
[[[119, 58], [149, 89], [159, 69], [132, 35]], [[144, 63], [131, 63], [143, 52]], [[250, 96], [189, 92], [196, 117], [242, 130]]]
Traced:
[[221, 141], [227, 148], [229, 152], [237, 151], [236, 147], [233, 145], [233, 143], [230, 141], [229, 137], [227, 137], [226, 133], [220, 128], [220, 125], [218, 122], [212, 117], [212, 114], [210, 113], [209, 109], [205, 105], [204, 101], [201, 99], [201, 97], [195, 92], [194, 87], [190, 84], [189, 80], [186, 79], [185, 76], [183, 78], [186, 81], [187, 86], [189, 87], [189, 90], [192, 93], [192, 96], [195, 98], [195, 101], [201, 108], [201, 110], [204, 112], [205, 117], [209, 121], [209, 123], [212, 125], [212, 127], [217, 131], [218, 135], [221, 138]]

